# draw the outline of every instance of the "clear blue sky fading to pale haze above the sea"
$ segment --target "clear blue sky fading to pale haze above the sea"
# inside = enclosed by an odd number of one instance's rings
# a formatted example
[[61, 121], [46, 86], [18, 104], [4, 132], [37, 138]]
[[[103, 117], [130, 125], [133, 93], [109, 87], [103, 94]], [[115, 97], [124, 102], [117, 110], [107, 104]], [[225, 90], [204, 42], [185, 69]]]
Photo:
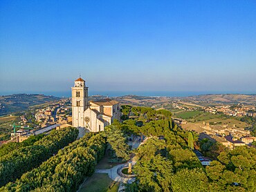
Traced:
[[256, 93], [256, 1], [0, 1], [0, 94]]

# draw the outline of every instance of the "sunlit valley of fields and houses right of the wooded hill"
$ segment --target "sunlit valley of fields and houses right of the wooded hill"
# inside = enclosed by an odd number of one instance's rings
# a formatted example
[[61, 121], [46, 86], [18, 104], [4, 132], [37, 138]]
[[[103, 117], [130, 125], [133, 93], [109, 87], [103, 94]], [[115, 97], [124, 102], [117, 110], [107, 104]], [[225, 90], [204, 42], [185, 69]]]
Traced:
[[[225, 98], [225, 99], [223, 99]], [[228, 148], [256, 141], [255, 95], [199, 95], [192, 97], [117, 97], [124, 104], [167, 109], [174, 121], [201, 139], [217, 141]], [[248, 100], [247, 100], [248, 99]]]

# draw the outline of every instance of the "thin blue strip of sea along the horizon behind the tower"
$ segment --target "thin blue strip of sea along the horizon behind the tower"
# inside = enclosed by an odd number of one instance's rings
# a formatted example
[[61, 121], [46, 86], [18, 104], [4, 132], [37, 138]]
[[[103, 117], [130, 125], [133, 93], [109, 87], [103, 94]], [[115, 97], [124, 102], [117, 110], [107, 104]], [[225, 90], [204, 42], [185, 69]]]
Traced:
[[[13, 94], [43, 94], [55, 97], [71, 97], [71, 91], [19, 91], [19, 92], [0, 92], [1, 96]], [[145, 97], [189, 97], [197, 95], [214, 94], [240, 94], [255, 95], [253, 91], [89, 91], [89, 96], [102, 95], [107, 97], [121, 97], [125, 95], [136, 95]]]

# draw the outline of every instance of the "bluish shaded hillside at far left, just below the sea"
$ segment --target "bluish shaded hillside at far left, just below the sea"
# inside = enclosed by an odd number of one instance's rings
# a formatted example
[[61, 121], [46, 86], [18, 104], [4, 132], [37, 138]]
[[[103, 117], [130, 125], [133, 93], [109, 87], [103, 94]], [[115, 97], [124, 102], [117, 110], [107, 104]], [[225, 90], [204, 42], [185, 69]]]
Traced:
[[29, 106], [55, 102], [60, 98], [41, 94], [13, 94], [0, 96], [0, 115], [27, 110]]

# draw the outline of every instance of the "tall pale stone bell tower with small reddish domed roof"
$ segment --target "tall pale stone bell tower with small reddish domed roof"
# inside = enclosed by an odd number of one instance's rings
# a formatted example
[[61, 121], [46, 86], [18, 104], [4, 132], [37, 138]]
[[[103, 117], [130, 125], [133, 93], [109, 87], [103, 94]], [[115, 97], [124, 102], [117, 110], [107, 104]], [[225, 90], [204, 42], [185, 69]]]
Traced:
[[81, 77], [75, 80], [72, 87], [72, 126], [84, 127], [84, 111], [89, 108], [88, 87]]

